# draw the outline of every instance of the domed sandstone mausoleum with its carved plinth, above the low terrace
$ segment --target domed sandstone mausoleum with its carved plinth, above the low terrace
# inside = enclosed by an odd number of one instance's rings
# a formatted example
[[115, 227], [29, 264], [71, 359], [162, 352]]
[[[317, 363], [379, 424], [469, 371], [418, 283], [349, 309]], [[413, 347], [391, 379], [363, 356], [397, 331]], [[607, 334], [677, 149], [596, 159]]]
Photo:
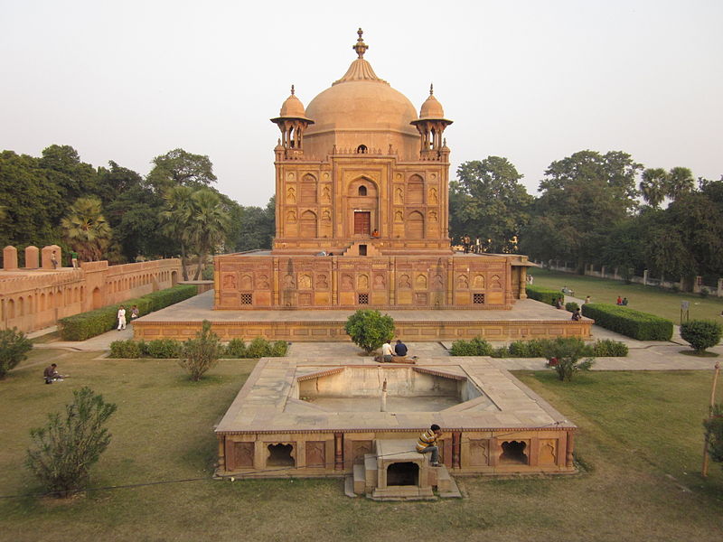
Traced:
[[216, 257], [216, 309], [510, 309], [524, 298], [526, 257], [450, 248], [452, 121], [433, 89], [417, 116], [367, 48], [360, 31], [343, 78], [307, 109], [292, 87], [272, 119], [276, 238], [270, 252]]

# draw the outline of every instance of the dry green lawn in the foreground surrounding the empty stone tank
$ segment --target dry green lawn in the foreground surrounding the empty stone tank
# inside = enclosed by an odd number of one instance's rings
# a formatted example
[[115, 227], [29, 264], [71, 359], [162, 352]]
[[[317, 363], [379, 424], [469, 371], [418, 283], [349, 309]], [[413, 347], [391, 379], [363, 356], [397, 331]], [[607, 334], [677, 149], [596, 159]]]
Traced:
[[[0, 499], [0, 540], [695, 540], [723, 539], [723, 470], [700, 478], [709, 371], [595, 372], [560, 383], [518, 376], [579, 427], [576, 476], [458, 478], [464, 500], [380, 503], [343, 495], [339, 479], [212, 481], [212, 426], [254, 360], [221, 361], [198, 384], [173, 360], [97, 360], [33, 351], [0, 381], [0, 495], [38, 491], [23, 467], [28, 430], [83, 385], [117, 403], [95, 486], [59, 501]], [[72, 378], [42, 384], [56, 360]]]

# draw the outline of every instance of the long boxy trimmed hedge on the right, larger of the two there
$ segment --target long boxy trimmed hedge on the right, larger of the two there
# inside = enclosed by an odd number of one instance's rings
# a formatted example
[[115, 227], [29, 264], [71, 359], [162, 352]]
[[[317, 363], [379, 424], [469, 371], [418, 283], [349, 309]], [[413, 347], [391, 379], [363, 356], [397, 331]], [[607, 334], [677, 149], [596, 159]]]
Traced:
[[606, 330], [638, 341], [670, 341], [672, 337], [672, 322], [654, 314], [605, 303], [584, 304], [582, 313]]

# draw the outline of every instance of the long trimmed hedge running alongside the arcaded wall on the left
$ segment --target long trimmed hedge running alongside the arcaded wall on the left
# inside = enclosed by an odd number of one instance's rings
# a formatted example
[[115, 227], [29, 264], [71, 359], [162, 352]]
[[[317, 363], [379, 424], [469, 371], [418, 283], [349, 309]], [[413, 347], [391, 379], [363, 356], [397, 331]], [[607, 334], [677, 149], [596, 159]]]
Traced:
[[[154, 311], [193, 297], [197, 291], [195, 285], [176, 285], [165, 290], [137, 297], [136, 299], [128, 299], [122, 303], [108, 305], [95, 311], [73, 314], [72, 316], [61, 318], [58, 321], [61, 339], [63, 341], [85, 341], [100, 333], [109, 332], [118, 324], [118, 306], [121, 304], [126, 307], [136, 305], [140, 315], [144, 316], [147, 313], [153, 313]], [[126, 312], [126, 320], [130, 322], [130, 311]]]

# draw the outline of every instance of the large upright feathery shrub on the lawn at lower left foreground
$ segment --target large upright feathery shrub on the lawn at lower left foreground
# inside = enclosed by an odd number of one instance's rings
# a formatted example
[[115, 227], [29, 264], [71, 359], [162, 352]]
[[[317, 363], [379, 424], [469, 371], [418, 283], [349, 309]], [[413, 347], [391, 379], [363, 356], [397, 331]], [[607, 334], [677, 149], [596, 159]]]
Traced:
[[103, 425], [117, 409], [88, 387], [73, 391], [73, 397], [64, 418], [49, 414], [44, 427], [31, 429], [33, 448], [25, 459], [42, 485], [59, 497], [70, 497], [88, 483], [90, 467], [110, 444]]

